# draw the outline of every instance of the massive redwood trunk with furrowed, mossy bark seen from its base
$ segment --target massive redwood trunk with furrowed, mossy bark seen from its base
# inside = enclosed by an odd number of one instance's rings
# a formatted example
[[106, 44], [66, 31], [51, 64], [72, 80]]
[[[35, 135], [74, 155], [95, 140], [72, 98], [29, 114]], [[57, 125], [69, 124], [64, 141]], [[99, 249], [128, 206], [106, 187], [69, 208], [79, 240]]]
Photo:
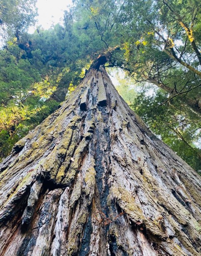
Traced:
[[91, 68], [0, 165], [1, 255], [199, 255], [201, 178]]

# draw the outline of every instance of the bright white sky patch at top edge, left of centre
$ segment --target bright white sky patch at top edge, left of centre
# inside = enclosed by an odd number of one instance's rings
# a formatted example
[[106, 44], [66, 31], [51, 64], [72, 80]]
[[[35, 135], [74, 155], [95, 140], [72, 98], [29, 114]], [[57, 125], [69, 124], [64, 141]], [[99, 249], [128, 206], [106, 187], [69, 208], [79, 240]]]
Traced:
[[72, 0], [37, 0], [38, 17], [34, 27], [30, 27], [28, 32], [33, 33], [37, 26], [48, 29], [52, 24], [61, 22], [63, 11], [68, 9], [68, 5], [72, 5]]

